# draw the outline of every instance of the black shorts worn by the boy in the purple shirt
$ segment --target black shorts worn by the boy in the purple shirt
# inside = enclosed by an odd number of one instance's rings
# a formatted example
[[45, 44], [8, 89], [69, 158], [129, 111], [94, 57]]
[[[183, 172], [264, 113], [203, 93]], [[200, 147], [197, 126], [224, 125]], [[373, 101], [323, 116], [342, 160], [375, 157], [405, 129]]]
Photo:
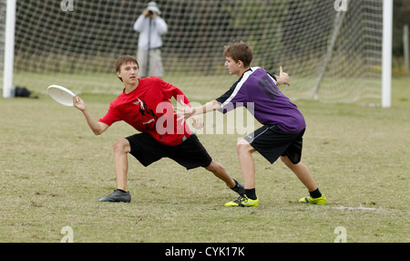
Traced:
[[287, 133], [276, 125], [265, 125], [244, 138], [261, 155], [273, 163], [280, 156], [288, 156], [293, 164], [301, 162], [302, 137], [305, 129], [299, 133]]

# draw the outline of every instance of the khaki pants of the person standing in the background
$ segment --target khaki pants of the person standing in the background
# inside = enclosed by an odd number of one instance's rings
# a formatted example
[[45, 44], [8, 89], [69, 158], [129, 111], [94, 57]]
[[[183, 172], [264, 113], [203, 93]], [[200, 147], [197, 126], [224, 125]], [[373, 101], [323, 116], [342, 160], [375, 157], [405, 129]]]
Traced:
[[[147, 58], [149, 56], [149, 68], [147, 71]], [[164, 68], [162, 67], [161, 50], [159, 48], [147, 50], [138, 49], [139, 78], [156, 76], [162, 78]]]

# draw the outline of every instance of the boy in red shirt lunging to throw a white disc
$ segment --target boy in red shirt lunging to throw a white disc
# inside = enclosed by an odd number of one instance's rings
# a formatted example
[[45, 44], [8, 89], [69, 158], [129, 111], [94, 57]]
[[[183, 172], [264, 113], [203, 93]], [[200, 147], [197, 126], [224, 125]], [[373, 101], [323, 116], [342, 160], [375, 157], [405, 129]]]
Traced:
[[[232, 179], [218, 162], [214, 162], [197, 136], [191, 133], [186, 122], [178, 120], [169, 99], [190, 105], [190, 101], [178, 88], [161, 78], [138, 78], [138, 61], [135, 57], [119, 57], [116, 62], [118, 78], [124, 90], [109, 106], [108, 113], [95, 120], [87, 110], [86, 103], [74, 97], [74, 107], [81, 110], [91, 131], [96, 135], [107, 131], [119, 120], [126, 121], [140, 133], [114, 143], [114, 162], [117, 190], [101, 198], [100, 202], [131, 201], [127, 189], [128, 153], [144, 166], [168, 157], [187, 170], [203, 167], [220, 178], [233, 191], [243, 195], [243, 184]], [[200, 127], [200, 118], [194, 118]]]

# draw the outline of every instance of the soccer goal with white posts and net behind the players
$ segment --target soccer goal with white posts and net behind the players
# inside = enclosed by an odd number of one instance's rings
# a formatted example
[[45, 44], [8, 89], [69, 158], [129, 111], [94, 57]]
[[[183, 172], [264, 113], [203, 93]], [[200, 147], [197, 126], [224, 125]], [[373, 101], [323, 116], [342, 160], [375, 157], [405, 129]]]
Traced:
[[[12, 97], [13, 86], [46, 92], [50, 84], [118, 93], [113, 65], [136, 55], [133, 24], [147, 2], [0, 0], [3, 96]], [[157, 3], [169, 26], [164, 78], [180, 89], [209, 89], [209, 99], [229, 88], [223, 47], [235, 39], [252, 47], [252, 66], [289, 72], [292, 86], [282, 90], [291, 99], [390, 107], [391, 0]]]

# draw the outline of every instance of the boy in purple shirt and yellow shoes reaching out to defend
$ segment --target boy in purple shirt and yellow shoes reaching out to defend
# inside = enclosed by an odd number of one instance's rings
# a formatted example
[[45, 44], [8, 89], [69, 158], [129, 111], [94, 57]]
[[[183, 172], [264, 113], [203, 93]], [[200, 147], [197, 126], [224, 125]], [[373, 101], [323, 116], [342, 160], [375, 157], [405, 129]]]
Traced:
[[251, 153], [258, 151], [269, 162], [281, 157], [282, 162], [306, 186], [310, 195], [299, 202], [326, 204], [326, 197], [319, 191], [313, 176], [301, 162], [302, 136], [306, 123], [297, 106], [277, 88], [289, 85], [289, 76], [280, 68], [279, 77], [274, 77], [263, 68], [251, 68], [252, 52], [245, 43], [232, 43], [225, 47], [225, 66], [230, 74], [240, 78], [220, 98], [203, 106], [179, 110], [185, 119], [192, 115], [220, 110], [226, 113], [238, 106], [252, 108], [250, 112], [264, 126], [253, 131], [238, 142], [236, 149], [245, 183], [245, 195], [231, 201], [226, 206], [258, 206], [259, 198], [255, 192], [255, 163]]

